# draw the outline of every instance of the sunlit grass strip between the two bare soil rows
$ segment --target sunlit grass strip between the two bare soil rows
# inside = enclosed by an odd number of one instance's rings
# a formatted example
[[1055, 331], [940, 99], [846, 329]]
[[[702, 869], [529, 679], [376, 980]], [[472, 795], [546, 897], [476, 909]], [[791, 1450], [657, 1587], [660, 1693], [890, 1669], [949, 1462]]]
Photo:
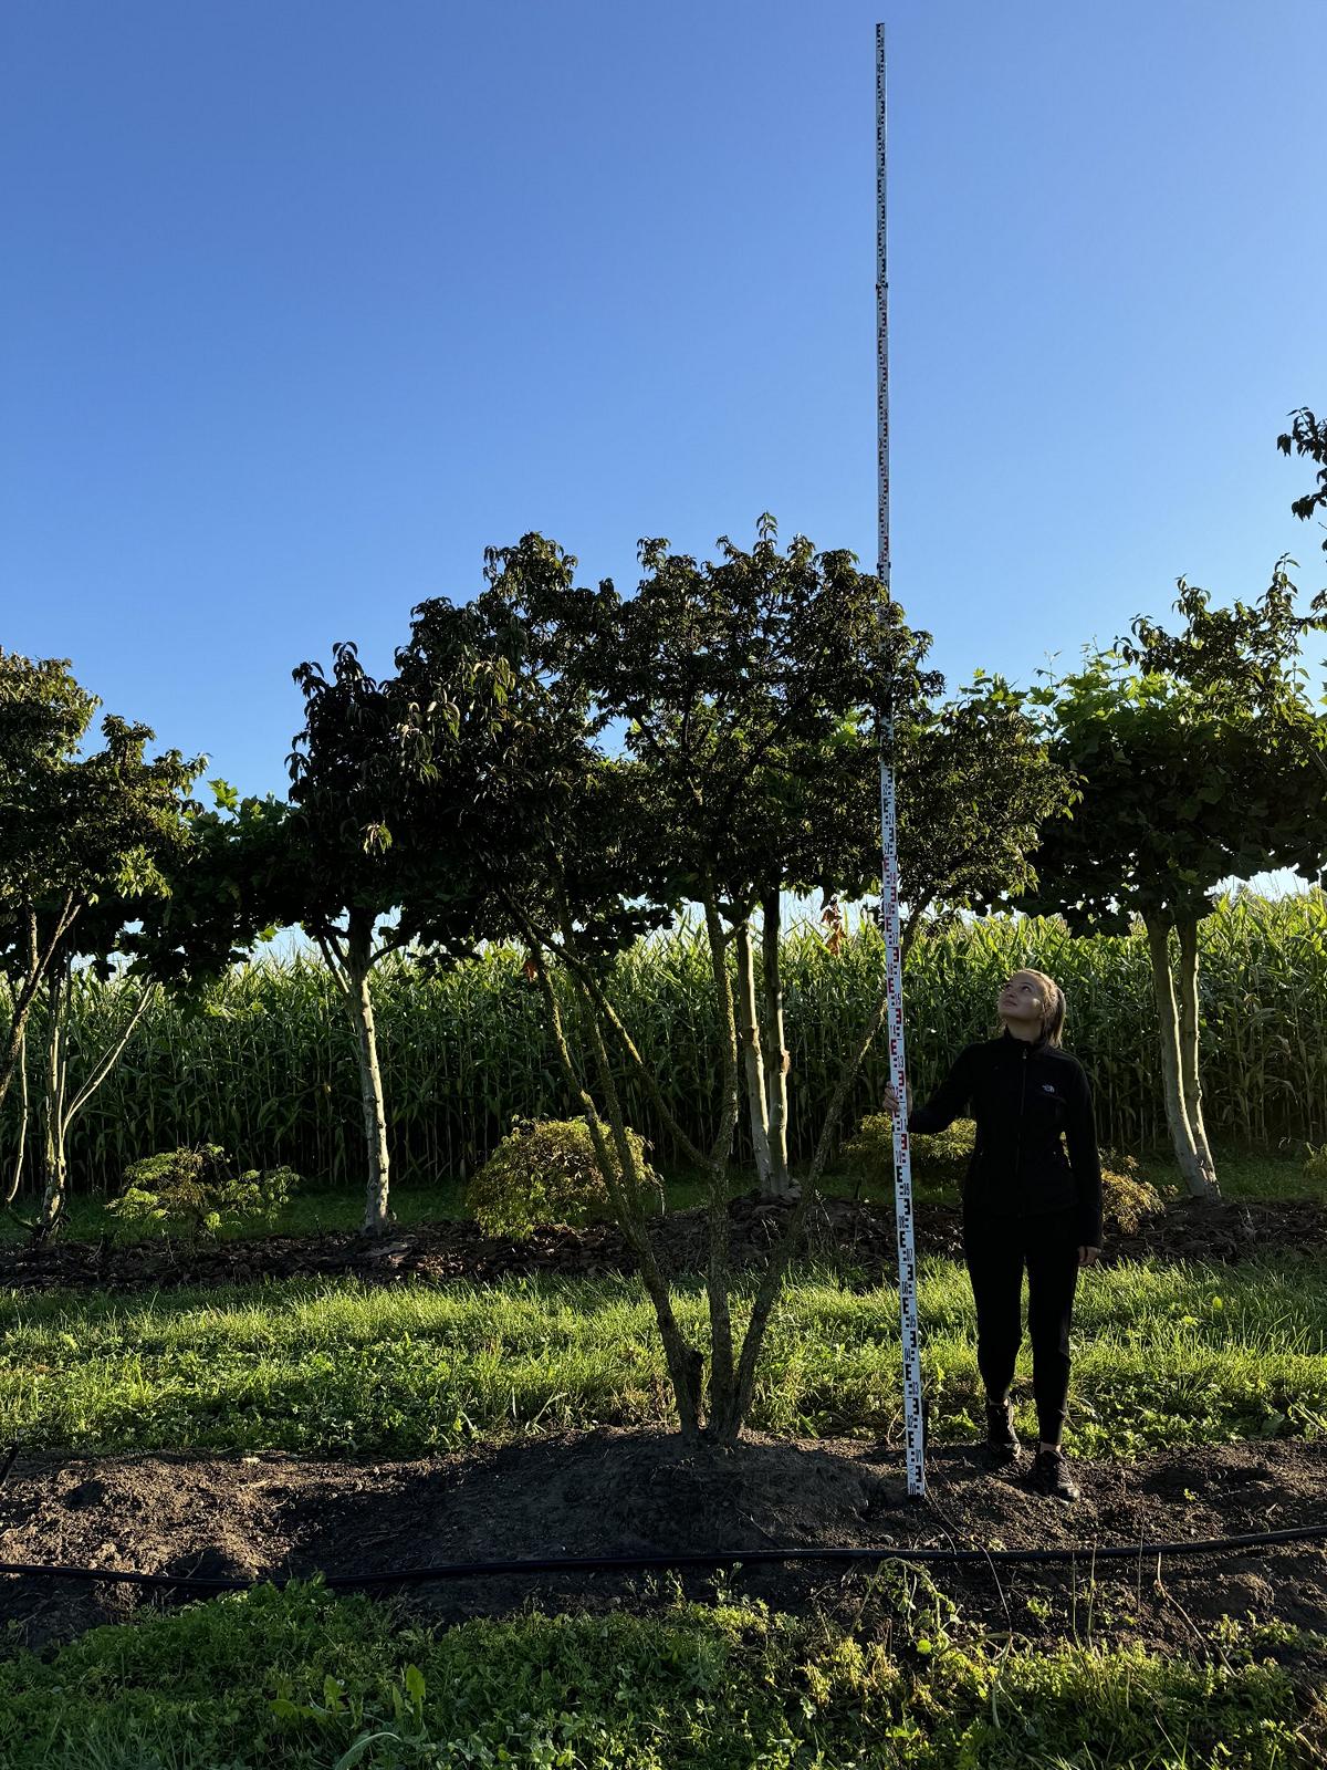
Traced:
[[[738, 1292], [745, 1322], [750, 1290]], [[706, 1343], [699, 1283], [678, 1315]], [[932, 1430], [977, 1435], [963, 1267], [918, 1285]], [[1028, 1365], [1021, 1421], [1032, 1428]], [[794, 1273], [752, 1425], [802, 1435], [899, 1423], [897, 1294]], [[154, 1296], [0, 1299], [0, 1443], [120, 1450], [419, 1455], [548, 1427], [667, 1423], [653, 1312], [630, 1278], [366, 1287], [303, 1280]], [[1132, 1457], [1171, 1443], [1327, 1432], [1327, 1262], [1090, 1274], [1076, 1313], [1067, 1444]]]

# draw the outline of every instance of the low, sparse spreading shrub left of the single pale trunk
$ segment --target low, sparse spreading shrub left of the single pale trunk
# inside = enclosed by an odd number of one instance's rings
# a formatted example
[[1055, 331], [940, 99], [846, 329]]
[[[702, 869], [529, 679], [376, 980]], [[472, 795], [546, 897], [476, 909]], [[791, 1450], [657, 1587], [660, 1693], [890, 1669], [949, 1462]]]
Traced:
[[198, 1143], [134, 1161], [106, 1211], [134, 1232], [179, 1227], [193, 1239], [216, 1235], [223, 1225], [272, 1221], [299, 1184], [294, 1168], [232, 1174], [219, 1143]]

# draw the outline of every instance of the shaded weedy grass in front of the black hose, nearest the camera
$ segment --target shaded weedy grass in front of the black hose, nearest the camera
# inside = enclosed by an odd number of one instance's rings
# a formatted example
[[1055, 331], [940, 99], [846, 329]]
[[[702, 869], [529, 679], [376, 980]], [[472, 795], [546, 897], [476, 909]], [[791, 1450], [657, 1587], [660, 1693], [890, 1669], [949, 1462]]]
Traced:
[[[1299, 1770], [1323, 1712], [1226, 1630], [1217, 1664], [963, 1641], [902, 1582], [846, 1634], [759, 1604], [449, 1630], [320, 1584], [193, 1604], [0, 1662], [7, 1770]], [[890, 1614], [892, 1612], [892, 1614]], [[1320, 1646], [1279, 1632], [1293, 1660]]]

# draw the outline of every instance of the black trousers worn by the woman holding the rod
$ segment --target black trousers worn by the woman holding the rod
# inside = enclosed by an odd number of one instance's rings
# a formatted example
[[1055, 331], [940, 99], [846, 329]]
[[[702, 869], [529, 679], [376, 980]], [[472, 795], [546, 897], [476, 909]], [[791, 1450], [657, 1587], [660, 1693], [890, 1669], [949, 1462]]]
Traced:
[[991, 1400], [1014, 1381], [1023, 1342], [1023, 1267], [1028, 1269], [1028, 1335], [1037, 1427], [1060, 1443], [1069, 1398], [1069, 1328], [1078, 1289], [1078, 1212], [1007, 1218], [964, 1211], [963, 1250], [977, 1303], [977, 1366]]

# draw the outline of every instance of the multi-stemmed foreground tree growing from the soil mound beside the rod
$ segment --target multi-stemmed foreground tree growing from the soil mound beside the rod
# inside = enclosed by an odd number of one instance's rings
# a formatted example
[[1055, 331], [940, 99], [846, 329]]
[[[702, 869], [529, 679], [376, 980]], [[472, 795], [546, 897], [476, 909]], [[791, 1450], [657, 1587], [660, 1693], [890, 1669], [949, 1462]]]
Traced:
[[[805, 885], [858, 894], [878, 878], [878, 823], [865, 841], [860, 816], [842, 809], [876, 779], [871, 712], [890, 694], [901, 724], [922, 733], [927, 694], [941, 683], [920, 667], [927, 635], [906, 628], [897, 604], [881, 612], [876, 579], [858, 573], [851, 554], [817, 554], [802, 536], [780, 554], [771, 519], [763, 519], [752, 552], [727, 540], [720, 549], [718, 565], [697, 565], [669, 554], [662, 540], [642, 542], [648, 575], [630, 600], [609, 581], [593, 591], [575, 588], [575, 559], [538, 535], [488, 554], [478, 611], [511, 666], [513, 687], [467, 851], [525, 942], [527, 974], [543, 991], [568, 1090], [655, 1304], [683, 1435], [727, 1443], [748, 1412], [787, 1258], [886, 1004], [881, 981], [869, 1023], [844, 1051], [802, 1197], [738, 1343], [727, 1257], [733, 1136], [745, 1096], [756, 1126], [764, 1110], [773, 1172], [768, 1126], [773, 1120], [779, 1131], [780, 1104], [768, 1071], [786, 1074], [782, 1053], [771, 1066], [761, 1057], [752, 922], [764, 908], [768, 1025], [782, 1044], [782, 1009], [777, 1000], [770, 1007], [777, 970], [768, 959], [779, 894]], [[423, 694], [426, 620], [407, 650]], [[603, 738], [623, 724], [625, 754], [609, 756]], [[920, 736], [917, 743], [920, 750]], [[1009, 781], [1017, 763], [1005, 761]], [[874, 786], [871, 802], [878, 805]], [[669, 1113], [655, 1067], [662, 1053], [637, 1050], [610, 989], [610, 956], [642, 927], [671, 920], [683, 903], [697, 903], [704, 915], [720, 1027], [715, 1122], [704, 1147]], [[626, 1078], [646, 1089], [708, 1177], [704, 1386], [702, 1354], [672, 1315], [639, 1205]]]

